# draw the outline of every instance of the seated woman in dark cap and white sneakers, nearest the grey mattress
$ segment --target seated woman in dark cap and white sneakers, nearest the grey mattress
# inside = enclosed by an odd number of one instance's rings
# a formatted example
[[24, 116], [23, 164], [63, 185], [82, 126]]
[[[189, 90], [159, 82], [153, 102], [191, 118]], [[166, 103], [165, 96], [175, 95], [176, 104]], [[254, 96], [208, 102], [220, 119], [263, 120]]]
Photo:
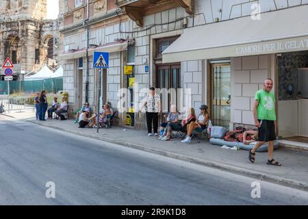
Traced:
[[188, 143], [190, 140], [192, 140], [192, 131], [195, 129], [206, 129], [207, 124], [209, 123], [209, 113], [207, 112], [207, 105], [201, 105], [200, 107], [200, 115], [198, 116], [198, 119], [196, 122], [192, 122], [187, 126], [187, 137], [185, 140], [181, 141], [183, 143]]

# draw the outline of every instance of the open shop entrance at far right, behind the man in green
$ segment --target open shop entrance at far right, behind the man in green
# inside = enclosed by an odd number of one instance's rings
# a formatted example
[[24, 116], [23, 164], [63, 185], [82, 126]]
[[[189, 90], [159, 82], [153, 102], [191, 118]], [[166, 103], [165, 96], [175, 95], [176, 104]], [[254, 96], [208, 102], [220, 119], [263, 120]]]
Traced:
[[278, 136], [308, 144], [308, 51], [277, 57]]

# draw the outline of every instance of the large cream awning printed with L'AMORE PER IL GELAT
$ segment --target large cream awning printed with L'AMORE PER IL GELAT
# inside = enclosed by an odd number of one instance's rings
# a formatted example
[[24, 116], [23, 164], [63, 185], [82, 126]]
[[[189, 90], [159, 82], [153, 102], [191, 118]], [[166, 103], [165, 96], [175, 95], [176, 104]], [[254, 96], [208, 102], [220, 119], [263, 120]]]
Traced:
[[184, 29], [163, 63], [308, 50], [308, 5]]

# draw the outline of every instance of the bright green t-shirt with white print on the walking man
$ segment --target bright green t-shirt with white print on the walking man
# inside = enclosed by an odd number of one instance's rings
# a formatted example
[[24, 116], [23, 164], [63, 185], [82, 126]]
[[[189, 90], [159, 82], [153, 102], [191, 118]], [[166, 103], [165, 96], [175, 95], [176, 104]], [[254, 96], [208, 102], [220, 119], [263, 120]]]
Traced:
[[259, 101], [257, 108], [258, 119], [276, 120], [275, 114], [275, 97], [272, 92], [266, 92], [261, 89], [255, 93], [255, 100]]

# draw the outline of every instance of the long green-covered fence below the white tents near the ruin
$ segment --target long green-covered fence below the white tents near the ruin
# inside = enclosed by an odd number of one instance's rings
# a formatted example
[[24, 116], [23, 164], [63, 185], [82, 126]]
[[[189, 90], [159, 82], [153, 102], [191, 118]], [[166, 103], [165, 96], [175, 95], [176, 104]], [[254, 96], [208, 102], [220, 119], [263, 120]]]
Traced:
[[[44, 79], [38, 81], [10, 81], [10, 94], [14, 93], [34, 93], [45, 90], [49, 92], [58, 92], [63, 90], [63, 77]], [[0, 95], [8, 94], [8, 81], [0, 81]]]

